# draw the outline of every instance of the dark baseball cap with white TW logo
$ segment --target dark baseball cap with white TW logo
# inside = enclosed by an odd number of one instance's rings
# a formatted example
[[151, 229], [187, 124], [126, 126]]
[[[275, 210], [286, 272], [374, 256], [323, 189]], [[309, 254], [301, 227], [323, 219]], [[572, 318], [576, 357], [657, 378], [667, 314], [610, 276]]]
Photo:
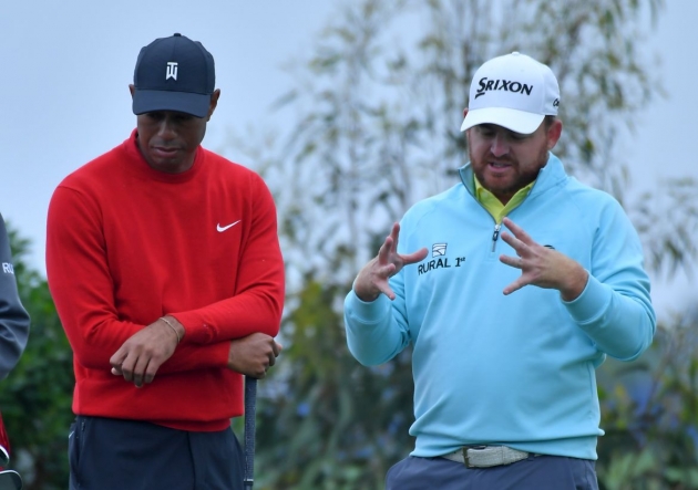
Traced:
[[177, 111], [206, 117], [216, 85], [212, 54], [175, 33], [141, 49], [133, 73], [133, 113]]

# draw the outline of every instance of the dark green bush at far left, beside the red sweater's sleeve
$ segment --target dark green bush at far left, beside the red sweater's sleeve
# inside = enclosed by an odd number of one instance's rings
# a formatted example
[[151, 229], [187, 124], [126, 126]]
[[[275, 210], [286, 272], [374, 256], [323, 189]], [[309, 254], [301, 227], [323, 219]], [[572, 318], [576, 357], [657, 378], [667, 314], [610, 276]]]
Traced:
[[22, 304], [31, 316], [27, 348], [0, 383], [0, 407], [12, 446], [11, 467], [28, 490], [68, 487], [72, 423], [72, 352], [45, 279], [27, 262], [30, 242], [8, 227]]

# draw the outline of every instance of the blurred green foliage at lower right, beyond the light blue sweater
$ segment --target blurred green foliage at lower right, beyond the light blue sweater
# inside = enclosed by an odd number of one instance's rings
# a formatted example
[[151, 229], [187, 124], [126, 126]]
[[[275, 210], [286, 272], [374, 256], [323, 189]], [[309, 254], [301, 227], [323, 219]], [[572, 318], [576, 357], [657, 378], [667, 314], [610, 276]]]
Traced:
[[698, 488], [697, 326], [698, 311], [689, 311], [659, 329], [641, 361], [601, 369], [605, 489]]

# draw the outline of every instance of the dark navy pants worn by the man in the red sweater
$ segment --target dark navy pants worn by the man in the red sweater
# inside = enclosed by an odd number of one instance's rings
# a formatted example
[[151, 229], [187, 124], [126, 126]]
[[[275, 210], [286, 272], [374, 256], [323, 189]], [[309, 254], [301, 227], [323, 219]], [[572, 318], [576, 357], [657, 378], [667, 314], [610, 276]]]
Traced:
[[243, 490], [244, 456], [232, 429], [78, 416], [68, 446], [70, 490]]

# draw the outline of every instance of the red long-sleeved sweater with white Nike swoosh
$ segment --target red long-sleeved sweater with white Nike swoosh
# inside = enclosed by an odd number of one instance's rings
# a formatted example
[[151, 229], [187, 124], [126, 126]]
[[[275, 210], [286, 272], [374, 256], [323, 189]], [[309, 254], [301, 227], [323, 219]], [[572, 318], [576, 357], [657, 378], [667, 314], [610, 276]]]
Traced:
[[[185, 430], [243, 414], [230, 340], [276, 335], [284, 303], [276, 208], [257, 174], [202, 147], [185, 173], [154, 170], [134, 131], [55, 189], [47, 272], [74, 353], [75, 414]], [[153, 383], [111, 374], [116, 350], [166, 314], [186, 334]]]

